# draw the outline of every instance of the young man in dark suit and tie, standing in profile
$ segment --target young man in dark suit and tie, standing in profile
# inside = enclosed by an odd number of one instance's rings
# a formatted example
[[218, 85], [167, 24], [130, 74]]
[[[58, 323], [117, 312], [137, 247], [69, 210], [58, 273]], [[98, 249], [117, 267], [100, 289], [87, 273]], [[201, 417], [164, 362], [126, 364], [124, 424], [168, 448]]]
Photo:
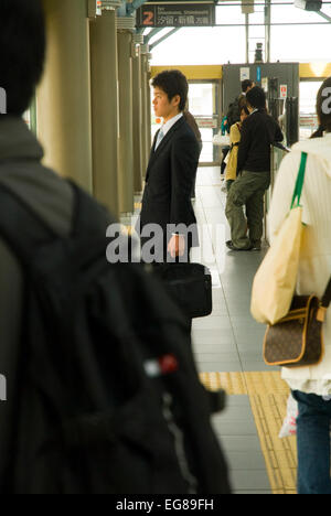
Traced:
[[163, 125], [146, 173], [140, 214], [142, 259], [188, 261], [191, 247], [197, 246], [191, 192], [200, 154], [195, 135], [183, 117], [189, 85], [181, 72], [166, 71], [152, 86], [154, 112]]

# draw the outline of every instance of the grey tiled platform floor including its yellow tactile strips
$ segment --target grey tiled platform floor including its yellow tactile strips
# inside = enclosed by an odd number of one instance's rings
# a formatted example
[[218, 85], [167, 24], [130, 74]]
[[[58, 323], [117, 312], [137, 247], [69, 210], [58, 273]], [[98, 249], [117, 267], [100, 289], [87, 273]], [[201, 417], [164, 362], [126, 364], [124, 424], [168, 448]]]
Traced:
[[[194, 206], [197, 221], [223, 225], [229, 239], [225, 202], [220, 169], [201, 168]], [[253, 278], [267, 249], [233, 252], [221, 246], [216, 251], [215, 235], [210, 233], [205, 243], [210, 252], [203, 262], [213, 273], [214, 310], [209, 318], [193, 321], [193, 350], [202, 381], [229, 394], [227, 409], [214, 418], [214, 426], [228, 460], [233, 490], [236, 494], [295, 493], [296, 440], [278, 438], [288, 387], [279, 368], [265, 365], [265, 326], [249, 312]]]

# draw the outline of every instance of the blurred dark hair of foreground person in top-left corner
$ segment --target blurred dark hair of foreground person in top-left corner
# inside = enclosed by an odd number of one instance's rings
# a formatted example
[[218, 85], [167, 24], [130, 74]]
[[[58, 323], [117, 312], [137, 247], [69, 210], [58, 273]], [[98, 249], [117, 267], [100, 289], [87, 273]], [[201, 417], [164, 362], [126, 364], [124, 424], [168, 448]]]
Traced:
[[44, 14], [40, 0], [0, 2], [0, 88], [7, 114], [21, 116], [39, 83], [45, 55]]

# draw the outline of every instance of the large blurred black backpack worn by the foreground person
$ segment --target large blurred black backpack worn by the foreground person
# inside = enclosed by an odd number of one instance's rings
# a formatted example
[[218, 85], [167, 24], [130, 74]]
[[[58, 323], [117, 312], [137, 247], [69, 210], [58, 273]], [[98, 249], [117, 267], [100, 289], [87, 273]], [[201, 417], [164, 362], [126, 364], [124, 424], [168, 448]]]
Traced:
[[141, 265], [107, 262], [98, 205], [73, 187], [67, 238], [0, 187], [24, 276], [0, 493], [229, 493], [210, 422], [220, 396], [199, 380], [185, 319]]

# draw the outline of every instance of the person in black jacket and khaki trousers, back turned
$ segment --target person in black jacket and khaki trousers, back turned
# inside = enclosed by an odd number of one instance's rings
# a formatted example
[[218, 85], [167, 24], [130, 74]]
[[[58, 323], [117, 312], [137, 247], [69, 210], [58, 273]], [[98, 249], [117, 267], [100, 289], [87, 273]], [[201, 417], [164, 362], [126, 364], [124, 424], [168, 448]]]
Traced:
[[284, 140], [280, 127], [267, 112], [265, 92], [255, 86], [247, 92], [246, 99], [250, 115], [243, 123], [238, 176], [225, 208], [231, 226], [231, 240], [226, 245], [231, 250], [260, 250], [264, 195], [270, 185], [270, 146]]

